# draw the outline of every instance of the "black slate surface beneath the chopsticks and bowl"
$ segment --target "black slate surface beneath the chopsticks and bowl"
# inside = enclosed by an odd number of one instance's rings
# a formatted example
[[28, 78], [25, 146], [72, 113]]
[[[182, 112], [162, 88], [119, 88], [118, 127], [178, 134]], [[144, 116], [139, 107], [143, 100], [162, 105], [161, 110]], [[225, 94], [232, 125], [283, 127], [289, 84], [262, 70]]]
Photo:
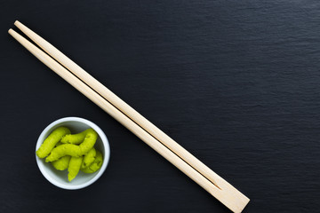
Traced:
[[[319, 212], [320, 2], [0, 1], [1, 212], [229, 212], [14, 41], [14, 20], [251, 198], [244, 212]], [[65, 116], [111, 146], [83, 190], [36, 167]]]

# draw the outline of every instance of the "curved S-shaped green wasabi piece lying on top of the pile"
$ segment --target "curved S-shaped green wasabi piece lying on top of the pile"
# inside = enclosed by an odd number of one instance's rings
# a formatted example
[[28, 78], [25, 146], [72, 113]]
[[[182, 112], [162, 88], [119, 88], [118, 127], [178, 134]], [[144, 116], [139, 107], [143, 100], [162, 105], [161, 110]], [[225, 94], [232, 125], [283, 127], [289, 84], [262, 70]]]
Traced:
[[60, 157], [70, 155], [72, 157], [80, 157], [87, 154], [94, 146], [98, 138], [98, 133], [95, 130], [88, 129], [84, 137], [84, 142], [80, 145], [64, 144], [52, 149], [51, 154], [45, 159], [45, 162], [53, 162]]

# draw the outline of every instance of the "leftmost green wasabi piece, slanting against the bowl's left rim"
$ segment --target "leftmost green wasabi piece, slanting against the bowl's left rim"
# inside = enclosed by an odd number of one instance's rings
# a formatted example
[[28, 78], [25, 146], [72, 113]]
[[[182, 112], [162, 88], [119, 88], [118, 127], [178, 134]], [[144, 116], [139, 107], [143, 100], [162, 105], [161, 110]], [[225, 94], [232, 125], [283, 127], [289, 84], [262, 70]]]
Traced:
[[52, 133], [44, 139], [44, 143], [36, 150], [36, 155], [39, 158], [44, 158], [52, 151], [53, 147], [60, 141], [60, 139], [70, 134], [70, 130], [66, 127], [58, 127], [57, 129], [53, 130]]

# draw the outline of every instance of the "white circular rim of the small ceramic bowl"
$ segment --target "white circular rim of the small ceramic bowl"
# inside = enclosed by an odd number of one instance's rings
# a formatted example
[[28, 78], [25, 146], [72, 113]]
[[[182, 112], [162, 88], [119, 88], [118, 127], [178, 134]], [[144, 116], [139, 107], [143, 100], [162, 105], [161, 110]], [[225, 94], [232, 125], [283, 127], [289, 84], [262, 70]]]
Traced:
[[44, 142], [44, 135], [52, 129], [52, 127], [58, 125], [61, 122], [83, 122], [86, 125], [92, 127], [93, 130], [95, 130], [101, 141], [102, 141], [102, 145], [104, 146], [104, 150], [105, 150], [105, 154], [104, 154], [104, 159], [103, 159], [103, 163], [102, 166], [100, 168], [100, 170], [98, 171], [98, 174], [96, 174], [94, 177], [92, 177], [92, 179], [90, 179], [89, 181], [85, 182], [84, 184], [80, 184], [80, 185], [68, 185], [67, 184], [62, 184], [58, 181], [56, 181], [54, 178], [52, 178], [47, 172], [46, 172], [46, 168], [44, 166], [43, 163], [40, 163], [40, 158], [38, 156], [36, 156], [36, 164], [39, 168], [39, 170], [41, 171], [41, 173], [44, 175], [44, 177], [50, 182], [52, 183], [52, 185], [56, 185], [62, 189], [68, 189], [68, 190], [76, 190], [76, 189], [81, 189], [84, 188], [88, 185], [92, 185], [95, 181], [97, 181], [99, 179], [99, 177], [101, 177], [101, 175], [103, 174], [103, 172], [106, 170], [107, 166], [108, 166], [108, 162], [110, 159], [110, 146], [108, 143], [108, 138], [106, 136], [106, 134], [100, 129], [100, 127], [95, 124], [94, 122], [91, 122], [89, 120], [86, 120], [84, 118], [80, 118], [80, 117], [64, 117], [64, 118], [60, 118], [52, 123], [50, 123], [40, 134], [39, 138], [36, 141], [36, 150], [38, 149], [38, 147], [40, 147], [42, 145], [42, 143]]

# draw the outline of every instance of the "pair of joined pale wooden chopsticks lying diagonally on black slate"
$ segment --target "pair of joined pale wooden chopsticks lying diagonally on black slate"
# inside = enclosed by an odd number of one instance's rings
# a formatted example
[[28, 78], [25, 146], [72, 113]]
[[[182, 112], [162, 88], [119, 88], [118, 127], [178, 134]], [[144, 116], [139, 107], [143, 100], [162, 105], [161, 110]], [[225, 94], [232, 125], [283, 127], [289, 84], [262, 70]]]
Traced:
[[198, 185], [201, 185], [208, 193], [211, 193], [226, 205], [228, 209], [234, 212], [241, 212], [244, 209], [250, 200], [243, 193], [237, 191], [235, 187], [210, 170], [194, 155], [188, 153], [186, 149], [167, 136], [162, 130], [159, 130], [122, 99], [118, 98], [112, 91], [109, 91], [92, 75], [89, 75], [83, 68], [76, 65], [74, 61], [68, 59], [51, 43], [36, 35], [35, 32], [19, 21], [15, 21], [14, 25], [20, 28], [26, 36], [46, 52], [40, 50], [13, 29], [9, 29], [9, 34], [35, 55], [37, 59], [74, 86], [76, 90], [82, 92], [88, 99], [91, 99], [93, 103], [100, 106], [116, 121], [131, 130], [133, 134], [156, 150], [158, 154], [172, 162], [174, 166], [193, 179]]

